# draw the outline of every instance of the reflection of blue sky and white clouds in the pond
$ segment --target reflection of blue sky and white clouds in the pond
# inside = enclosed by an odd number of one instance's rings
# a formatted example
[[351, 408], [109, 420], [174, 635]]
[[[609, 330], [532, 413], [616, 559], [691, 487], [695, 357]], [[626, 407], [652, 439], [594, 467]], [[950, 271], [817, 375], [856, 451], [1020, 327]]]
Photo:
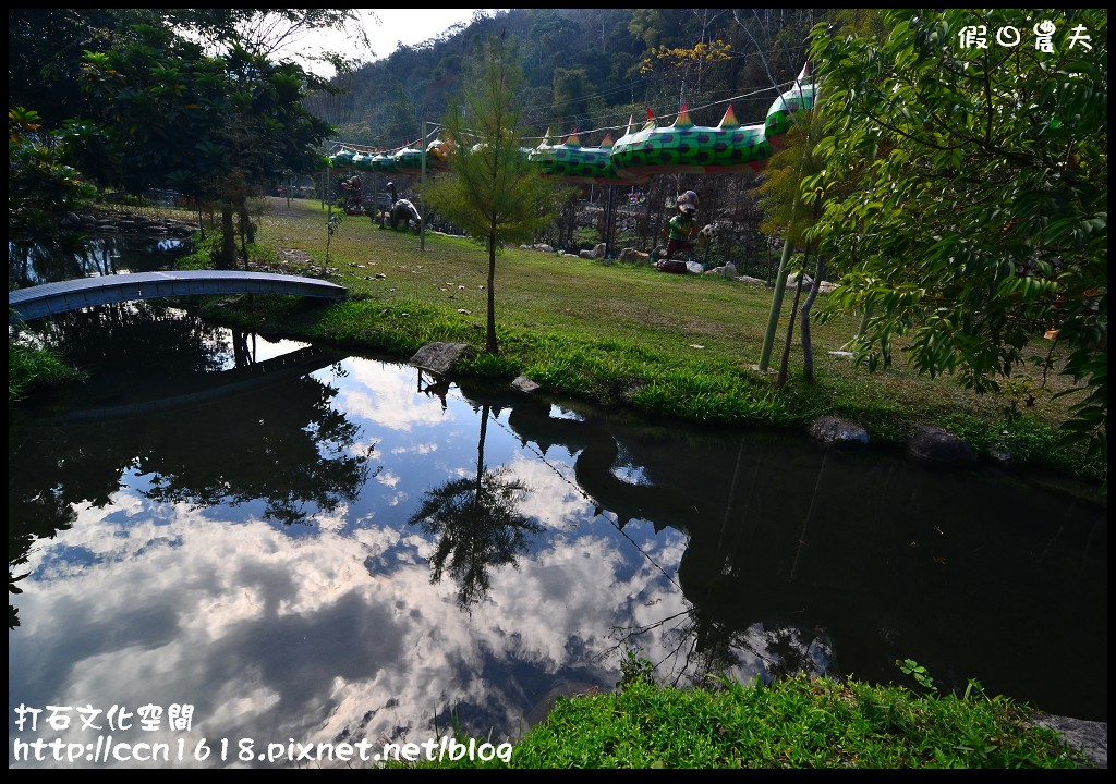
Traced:
[[[376, 445], [382, 468], [359, 497], [282, 527], [252, 503], [154, 503], [126, 473], [108, 505], [79, 509], [32, 553], [10, 636], [12, 706], [190, 703], [190, 738], [260, 743], [422, 741], [432, 716], [455, 709], [472, 730], [504, 735], [562, 683], [610, 687], [614, 626], [684, 609], [656, 565], [673, 573], [684, 538], [638, 523], [620, 535], [569, 481], [569, 452], [540, 461], [503, 413], [490, 416], [485, 463], [530, 488], [522, 511], [545, 527], [462, 611], [452, 580], [431, 584], [433, 543], [406, 521], [429, 486], [475, 472], [478, 414], [455, 391], [445, 410], [416, 394], [412, 368], [343, 367], [345, 378], [316, 376], [341, 386], [336, 405]], [[158, 734], [143, 735], [132, 739]]]

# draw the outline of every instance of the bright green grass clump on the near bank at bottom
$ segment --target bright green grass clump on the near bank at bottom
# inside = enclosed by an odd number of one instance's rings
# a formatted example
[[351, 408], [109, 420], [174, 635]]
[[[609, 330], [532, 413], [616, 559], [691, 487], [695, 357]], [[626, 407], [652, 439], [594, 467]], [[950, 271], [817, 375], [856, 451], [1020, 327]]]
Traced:
[[[971, 683], [962, 696], [799, 676], [771, 686], [675, 689], [641, 679], [559, 699], [514, 744], [519, 768], [1078, 767], [1028, 712]], [[493, 742], [494, 743], [494, 742]], [[423, 767], [504, 767], [499, 758]]]

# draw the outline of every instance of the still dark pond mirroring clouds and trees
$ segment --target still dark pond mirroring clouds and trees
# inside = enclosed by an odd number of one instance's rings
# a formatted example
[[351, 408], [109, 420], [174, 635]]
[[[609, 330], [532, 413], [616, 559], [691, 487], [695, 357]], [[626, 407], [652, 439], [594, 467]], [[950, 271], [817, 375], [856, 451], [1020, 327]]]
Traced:
[[118, 733], [191, 746], [504, 738], [636, 646], [667, 684], [902, 683], [910, 657], [1107, 719], [1103, 505], [151, 303], [45, 337], [89, 377], [9, 417], [10, 710], [191, 705], [187, 730]]

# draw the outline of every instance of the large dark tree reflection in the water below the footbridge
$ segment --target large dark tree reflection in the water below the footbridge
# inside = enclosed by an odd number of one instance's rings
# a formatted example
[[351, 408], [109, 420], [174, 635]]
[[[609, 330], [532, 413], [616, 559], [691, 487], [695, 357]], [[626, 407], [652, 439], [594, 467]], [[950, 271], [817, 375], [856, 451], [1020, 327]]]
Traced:
[[[262, 515], [285, 525], [354, 501], [379, 472], [369, 471], [374, 446], [357, 446], [359, 426], [333, 405], [337, 388], [310, 375], [337, 356], [300, 349], [258, 362], [234, 335], [235, 369], [213, 372], [230, 354], [229, 335], [145, 303], [40, 329], [67, 361], [98, 375], [126, 364], [122, 356], [138, 369], [126, 383], [90, 378], [77, 396], [94, 407], [68, 419], [10, 413], [9, 592], [19, 592], [33, 543], [69, 529], [79, 506], [110, 505], [128, 471], [148, 475], [140, 491], [148, 499], [198, 509], [259, 500]], [[157, 383], [141, 383], [144, 368]], [[8, 613], [18, 626], [11, 606]]]

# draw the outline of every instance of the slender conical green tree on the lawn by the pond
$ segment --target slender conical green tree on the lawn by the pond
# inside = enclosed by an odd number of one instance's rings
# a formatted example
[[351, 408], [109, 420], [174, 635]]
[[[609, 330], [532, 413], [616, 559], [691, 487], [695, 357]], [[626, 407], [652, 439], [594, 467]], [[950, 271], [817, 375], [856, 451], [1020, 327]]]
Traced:
[[453, 105], [442, 132], [452, 144], [451, 173], [433, 181], [425, 197], [446, 220], [487, 243], [488, 327], [484, 349], [498, 354], [496, 336], [496, 258], [504, 242], [530, 240], [557, 206], [550, 184], [519, 151], [517, 94], [520, 69], [502, 37], [490, 38], [473, 78]]

